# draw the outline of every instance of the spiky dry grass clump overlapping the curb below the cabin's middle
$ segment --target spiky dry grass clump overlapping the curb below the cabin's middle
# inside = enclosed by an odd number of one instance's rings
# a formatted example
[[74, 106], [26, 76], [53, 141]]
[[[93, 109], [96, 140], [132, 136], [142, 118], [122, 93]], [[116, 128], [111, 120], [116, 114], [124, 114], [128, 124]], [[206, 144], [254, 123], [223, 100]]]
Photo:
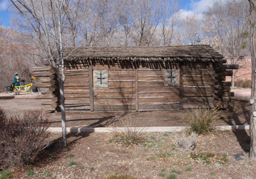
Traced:
[[125, 147], [139, 146], [145, 142], [144, 127], [132, 126], [132, 120], [122, 120], [123, 127], [112, 127], [113, 137], [111, 142], [119, 143]]

